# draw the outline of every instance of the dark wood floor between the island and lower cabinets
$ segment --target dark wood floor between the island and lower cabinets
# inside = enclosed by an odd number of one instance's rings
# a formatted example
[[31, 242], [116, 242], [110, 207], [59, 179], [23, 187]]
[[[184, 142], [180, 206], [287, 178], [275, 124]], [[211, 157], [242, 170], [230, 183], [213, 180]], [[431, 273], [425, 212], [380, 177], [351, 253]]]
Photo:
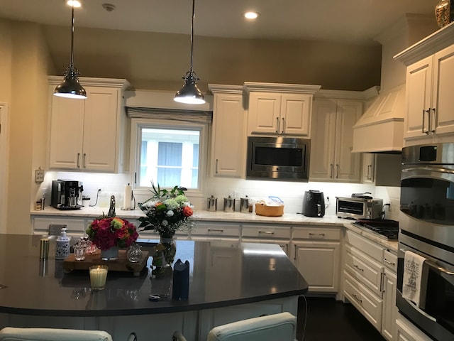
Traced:
[[307, 316], [304, 298], [298, 302], [298, 341], [384, 341], [353, 305], [334, 298], [308, 297], [306, 301]]

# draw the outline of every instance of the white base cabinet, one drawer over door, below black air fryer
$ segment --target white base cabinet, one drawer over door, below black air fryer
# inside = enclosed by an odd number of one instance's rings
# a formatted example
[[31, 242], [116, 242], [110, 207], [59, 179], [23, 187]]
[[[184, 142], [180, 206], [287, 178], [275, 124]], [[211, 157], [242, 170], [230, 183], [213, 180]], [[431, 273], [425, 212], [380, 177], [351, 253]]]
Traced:
[[291, 257], [309, 284], [309, 293], [338, 292], [340, 237], [338, 227], [294, 227]]

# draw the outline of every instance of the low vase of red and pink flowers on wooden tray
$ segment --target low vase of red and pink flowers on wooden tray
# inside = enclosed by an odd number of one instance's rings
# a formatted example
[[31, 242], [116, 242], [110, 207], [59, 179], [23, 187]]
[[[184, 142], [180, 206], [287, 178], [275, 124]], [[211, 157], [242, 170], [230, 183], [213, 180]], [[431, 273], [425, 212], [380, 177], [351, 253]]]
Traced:
[[89, 240], [101, 250], [103, 261], [117, 260], [118, 250], [130, 247], [138, 238], [135, 226], [118, 217], [99, 217], [88, 225], [85, 232]]

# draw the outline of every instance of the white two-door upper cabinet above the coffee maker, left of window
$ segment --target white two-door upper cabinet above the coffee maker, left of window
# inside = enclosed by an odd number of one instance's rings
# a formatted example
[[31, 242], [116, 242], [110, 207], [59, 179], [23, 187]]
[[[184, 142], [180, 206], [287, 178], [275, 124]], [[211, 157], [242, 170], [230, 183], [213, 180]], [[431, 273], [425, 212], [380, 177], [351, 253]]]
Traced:
[[87, 99], [53, 96], [62, 77], [49, 77], [49, 168], [71, 171], [123, 171], [126, 80], [79, 78]]

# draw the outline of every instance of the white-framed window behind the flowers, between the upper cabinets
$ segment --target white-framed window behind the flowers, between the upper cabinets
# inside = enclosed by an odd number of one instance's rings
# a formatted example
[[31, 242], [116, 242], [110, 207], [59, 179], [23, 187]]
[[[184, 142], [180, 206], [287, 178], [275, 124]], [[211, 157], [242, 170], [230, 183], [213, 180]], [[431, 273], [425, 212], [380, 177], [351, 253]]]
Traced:
[[[135, 144], [134, 183], [136, 188], [150, 188], [151, 181], [161, 188], [181, 185], [201, 191], [201, 163], [206, 124], [172, 123], [163, 120], [133, 119], [131, 141]], [[135, 141], [135, 142], [134, 142]], [[205, 152], [206, 153], [206, 152]]]

